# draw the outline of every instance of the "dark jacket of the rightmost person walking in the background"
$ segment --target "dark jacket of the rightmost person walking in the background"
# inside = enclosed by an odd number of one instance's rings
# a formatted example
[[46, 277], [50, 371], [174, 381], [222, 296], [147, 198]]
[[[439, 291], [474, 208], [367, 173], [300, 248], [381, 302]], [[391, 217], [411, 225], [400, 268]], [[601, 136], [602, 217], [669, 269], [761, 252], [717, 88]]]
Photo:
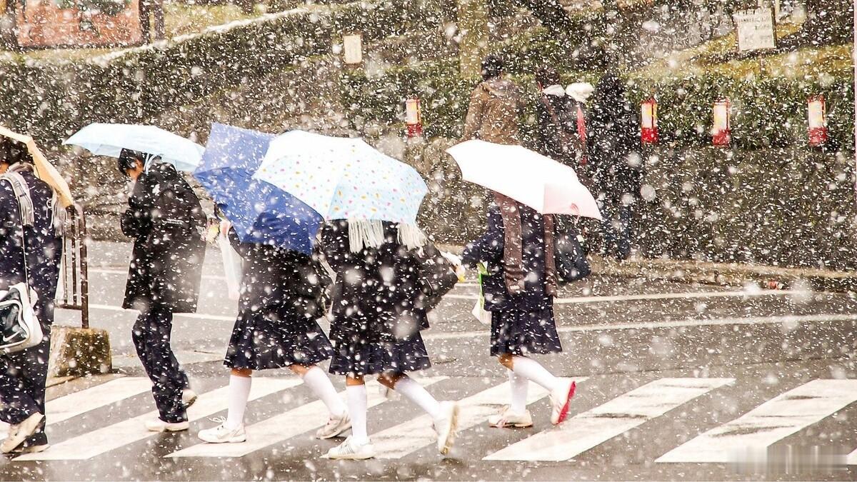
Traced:
[[616, 75], [604, 75], [591, 104], [589, 155], [597, 187], [612, 199], [625, 193], [638, 196], [642, 182], [640, 126], [622, 81]]

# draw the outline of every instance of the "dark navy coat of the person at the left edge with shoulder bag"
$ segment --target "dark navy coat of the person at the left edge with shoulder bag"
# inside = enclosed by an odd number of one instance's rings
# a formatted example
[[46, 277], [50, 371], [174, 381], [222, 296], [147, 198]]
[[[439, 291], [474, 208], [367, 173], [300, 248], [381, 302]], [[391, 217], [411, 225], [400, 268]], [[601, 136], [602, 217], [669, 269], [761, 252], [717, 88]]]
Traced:
[[[53, 299], [57, 293], [63, 240], [53, 225], [53, 191], [32, 171], [19, 172], [27, 182], [33, 201], [33, 226], [27, 226], [27, 269], [30, 287], [39, 294], [36, 312], [45, 325], [53, 322]], [[21, 211], [12, 186], [0, 181], [0, 289], [24, 280], [21, 249]]]

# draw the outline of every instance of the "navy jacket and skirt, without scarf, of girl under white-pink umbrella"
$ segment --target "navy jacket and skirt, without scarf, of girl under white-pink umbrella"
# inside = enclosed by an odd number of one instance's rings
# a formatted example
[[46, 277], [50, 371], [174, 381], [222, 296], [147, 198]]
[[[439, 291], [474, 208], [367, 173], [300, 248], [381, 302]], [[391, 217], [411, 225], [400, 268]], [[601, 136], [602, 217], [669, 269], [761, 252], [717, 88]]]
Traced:
[[488, 208], [488, 228], [481, 238], [464, 248], [462, 261], [475, 267], [488, 265], [482, 277], [485, 310], [491, 311], [491, 354], [560, 352], [560, 338], [554, 322], [554, 298], [547, 292], [544, 262], [544, 220], [541, 214], [519, 205], [521, 216], [524, 289], [510, 294], [503, 268], [505, 231], [500, 208]]

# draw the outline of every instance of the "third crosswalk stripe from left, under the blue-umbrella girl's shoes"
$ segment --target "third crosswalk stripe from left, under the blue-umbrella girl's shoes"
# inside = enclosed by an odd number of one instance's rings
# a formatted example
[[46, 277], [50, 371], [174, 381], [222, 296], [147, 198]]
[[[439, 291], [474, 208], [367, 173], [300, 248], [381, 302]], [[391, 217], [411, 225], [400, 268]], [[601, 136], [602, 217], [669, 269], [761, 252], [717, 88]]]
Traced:
[[[423, 387], [446, 380], [447, 377], [421, 378]], [[368, 407], [375, 407], [387, 401], [381, 395], [381, 385], [377, 382], [366, 384]], [[339, 393], [345, 397], [345, 392]], [[327, 423], [327, 407], [324, 402], [311, 401], [285, 413], [262, 420], [247, 427], [247, 441], [243, 443], [198, 443], [187, 449], [173, 452], [168, 457], [243, 457], [256, 450], [264, 449], [276, 443], [283, 443], [291, 437], [297, 437], [308, 431], [315, 431]]]

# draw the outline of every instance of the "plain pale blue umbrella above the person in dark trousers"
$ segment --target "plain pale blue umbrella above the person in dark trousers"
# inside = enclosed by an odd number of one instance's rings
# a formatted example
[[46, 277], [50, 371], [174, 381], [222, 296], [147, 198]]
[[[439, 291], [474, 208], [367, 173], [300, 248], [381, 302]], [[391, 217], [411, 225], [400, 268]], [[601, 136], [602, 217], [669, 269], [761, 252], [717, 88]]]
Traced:
[[122, 149], [160, 156], [179, 171], [192, 172], [199, 166], [201, 145], [153, 125], [89, 124], [63, 144], [87, 149], [95, 155], [119, 157]]

